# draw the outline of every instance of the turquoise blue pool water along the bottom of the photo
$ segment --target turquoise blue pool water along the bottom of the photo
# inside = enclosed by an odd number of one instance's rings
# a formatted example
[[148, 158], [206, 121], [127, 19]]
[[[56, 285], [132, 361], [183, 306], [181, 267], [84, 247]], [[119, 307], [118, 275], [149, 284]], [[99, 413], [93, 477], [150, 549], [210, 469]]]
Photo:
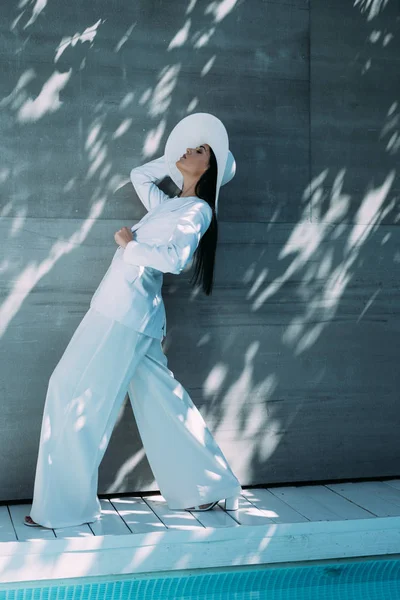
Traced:
[[400, 600], [400, 560], [78, 581], [14, 588], [10, 584], [0, 589], [0, 600]]

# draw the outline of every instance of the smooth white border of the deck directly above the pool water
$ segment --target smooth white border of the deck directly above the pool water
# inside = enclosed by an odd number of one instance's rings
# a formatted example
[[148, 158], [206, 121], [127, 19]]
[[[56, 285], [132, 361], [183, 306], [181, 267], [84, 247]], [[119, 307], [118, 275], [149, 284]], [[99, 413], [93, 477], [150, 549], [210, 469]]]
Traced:
[[0, 543], [0, 589], [23, 581], [400, 553], [400, 517]]

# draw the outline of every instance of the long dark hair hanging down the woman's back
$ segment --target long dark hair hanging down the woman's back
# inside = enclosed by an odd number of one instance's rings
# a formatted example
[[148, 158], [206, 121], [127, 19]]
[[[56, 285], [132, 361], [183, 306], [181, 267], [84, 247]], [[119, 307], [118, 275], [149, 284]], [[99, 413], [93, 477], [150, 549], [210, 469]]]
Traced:
[[214, 283], [215, 253], [218, 241], [218, 223], [215, 214], [215, 194], [217, 189], [217, 159], [210, 147], [210, 162], [195, 187], [198, 198], [205, 200], [212, 209], [212, 219], [207, 231], [201, 236], [199, 245], [193, 255], [194, 272], [190, 283], [195, 285], [201, 280], [203, 292], [209, 296]]

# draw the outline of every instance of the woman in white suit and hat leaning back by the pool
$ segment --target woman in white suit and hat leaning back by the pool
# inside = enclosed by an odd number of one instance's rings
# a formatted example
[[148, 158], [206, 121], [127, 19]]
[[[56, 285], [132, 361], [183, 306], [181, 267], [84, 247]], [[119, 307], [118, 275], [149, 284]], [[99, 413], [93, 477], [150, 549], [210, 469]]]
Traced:
[[[165, 156], [131, 171], [148, 213], [115, 233], [110, 267], [49, 379], [26, 525], [101, 518], [98, 467], [127, 392], [169, 508], [209, 510], [225, 499], [226, 510], [237, 509], [240, 483], [161, 345], [163, 273], [179, 274], [194, 258], [194, 280], [211, 293], [219, 188], [234, 172], [225, 127], [207, 113], [180, 121]], [[174, 198], [155, 183], [166, 175], [181, 188]]]

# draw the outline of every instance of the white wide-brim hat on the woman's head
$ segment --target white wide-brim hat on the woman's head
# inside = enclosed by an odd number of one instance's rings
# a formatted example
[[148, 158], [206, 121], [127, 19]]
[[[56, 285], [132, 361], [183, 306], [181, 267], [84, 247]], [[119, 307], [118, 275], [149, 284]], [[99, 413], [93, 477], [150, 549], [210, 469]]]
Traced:
[[186, 148], [197, 148], [201, 144], [211, 146], [217, 159], [215, 212], [218, 214], [219, 189], [221, 185], [228, 183], [236, 172], [236, 161], [229, 150], [228, 133], [222, 121], [209, 113], [193, 113], [184, 117], [168, 136], [165, 161], [172, 181], [182, 189], [183, 176], [176, 162], [186, 152]]

